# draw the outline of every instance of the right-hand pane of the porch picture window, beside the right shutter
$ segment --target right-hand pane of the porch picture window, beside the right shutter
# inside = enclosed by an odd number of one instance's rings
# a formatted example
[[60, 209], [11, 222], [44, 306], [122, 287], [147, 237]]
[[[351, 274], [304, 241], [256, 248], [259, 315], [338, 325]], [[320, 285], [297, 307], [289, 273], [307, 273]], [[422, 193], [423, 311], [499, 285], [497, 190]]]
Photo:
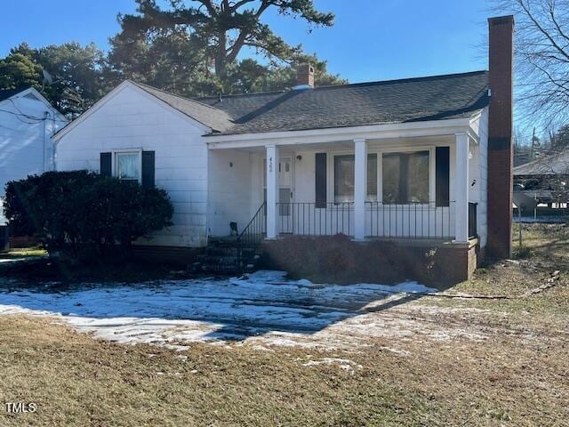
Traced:
[[383, 203], [429, 202], [429, 151], [383, 155]]

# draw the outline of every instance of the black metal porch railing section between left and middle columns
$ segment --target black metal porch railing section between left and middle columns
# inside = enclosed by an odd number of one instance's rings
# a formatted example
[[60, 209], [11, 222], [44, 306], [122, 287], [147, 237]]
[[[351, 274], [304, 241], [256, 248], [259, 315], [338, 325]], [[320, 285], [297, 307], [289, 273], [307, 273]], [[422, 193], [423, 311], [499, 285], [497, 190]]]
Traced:
[[277, 203], [279, 234], [334, 236], [354, 233], [353, 203]]

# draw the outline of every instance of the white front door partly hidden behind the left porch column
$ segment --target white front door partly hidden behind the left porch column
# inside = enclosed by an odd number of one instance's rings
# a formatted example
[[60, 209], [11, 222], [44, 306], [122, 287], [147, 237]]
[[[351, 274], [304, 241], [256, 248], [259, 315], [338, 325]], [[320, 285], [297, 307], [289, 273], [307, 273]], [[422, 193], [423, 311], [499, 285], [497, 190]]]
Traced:
[[[278, 161], [278, 228], [281, 233], [293, 232], [293, 157], [281, 156]], [[263, 159], [263, 199], [267, 201], [267, 162]]]

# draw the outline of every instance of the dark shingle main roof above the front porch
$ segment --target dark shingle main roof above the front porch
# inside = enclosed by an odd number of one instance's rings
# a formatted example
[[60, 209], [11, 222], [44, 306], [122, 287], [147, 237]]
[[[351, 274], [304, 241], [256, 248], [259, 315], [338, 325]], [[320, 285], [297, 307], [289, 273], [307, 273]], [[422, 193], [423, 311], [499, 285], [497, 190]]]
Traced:
[[487, 71], [475, 71], [197, 101], [231, 117], [220, 133], [265, 133], [471, 117], [487, 89]]

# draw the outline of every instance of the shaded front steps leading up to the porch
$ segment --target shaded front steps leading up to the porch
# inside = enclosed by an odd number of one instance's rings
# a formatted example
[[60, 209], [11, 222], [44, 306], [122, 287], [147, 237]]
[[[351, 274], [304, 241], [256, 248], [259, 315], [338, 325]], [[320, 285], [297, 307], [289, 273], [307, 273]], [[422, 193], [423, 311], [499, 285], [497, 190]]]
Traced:
[[238, 246], [236, 242], [210, 241], [204, 254], [191, 266], [195, 272], [241, 274], [257, 269], [260, 261], [258, 246]]

